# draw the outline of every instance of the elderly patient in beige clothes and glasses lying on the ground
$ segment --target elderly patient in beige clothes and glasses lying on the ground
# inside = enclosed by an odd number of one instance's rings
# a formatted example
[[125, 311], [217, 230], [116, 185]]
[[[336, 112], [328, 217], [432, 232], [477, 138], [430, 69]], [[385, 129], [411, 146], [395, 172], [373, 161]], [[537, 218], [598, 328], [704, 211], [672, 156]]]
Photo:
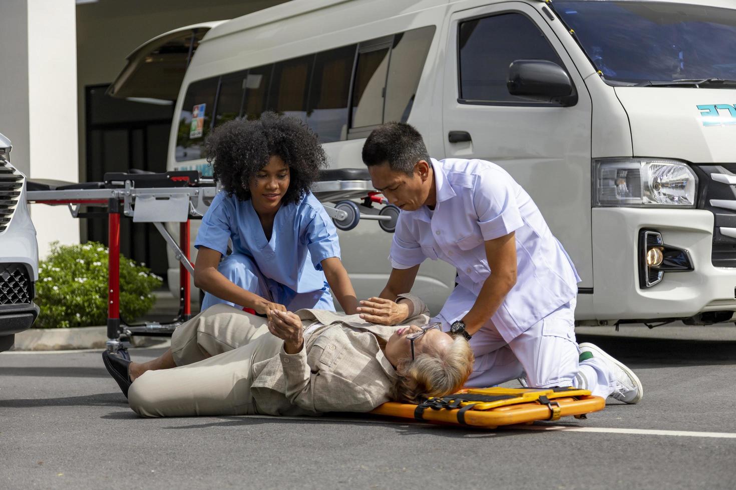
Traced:
[[272, 311], [269, 321], [218, 304], [177, 328], [158, 359], [102, 357], [142, 417], [371, 411], [455, 392], [473, 370], [467, 341], [427, 325], [416, 296], [398, 301], [406, 325], [316, 309]]

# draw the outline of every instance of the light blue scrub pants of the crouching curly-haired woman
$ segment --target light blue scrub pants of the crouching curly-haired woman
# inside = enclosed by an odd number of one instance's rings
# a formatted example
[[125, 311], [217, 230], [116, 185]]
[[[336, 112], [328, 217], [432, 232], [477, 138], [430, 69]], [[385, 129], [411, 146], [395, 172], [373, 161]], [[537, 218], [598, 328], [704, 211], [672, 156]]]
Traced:
[[[297, 311], [302, 308], [335, 311], [330, 287], [326, 282], [322, 289], [314, 292], [294, 292], [289, 287], [264, 277], [255, 262], [242, 253], [231, 253], [222, 259], [217, 270], [239, 287], [261, 296], [261, 298], [282, 304], [289, 311]], [[205, 299], [202, 300], [202, 311], [217, 303], [243, 309], [242, 305], [221, 300], [209, 292], [205, 292]]]

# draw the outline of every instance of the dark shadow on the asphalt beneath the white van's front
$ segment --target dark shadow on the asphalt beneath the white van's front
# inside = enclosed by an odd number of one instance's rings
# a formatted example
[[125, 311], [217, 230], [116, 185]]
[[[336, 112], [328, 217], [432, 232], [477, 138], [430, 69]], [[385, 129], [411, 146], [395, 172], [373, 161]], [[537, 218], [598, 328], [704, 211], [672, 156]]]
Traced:
[[629, 367], [715, 366], [736, 364], [736, 342], [724, 340], [648, 339], [634, 336], [576, 334]]

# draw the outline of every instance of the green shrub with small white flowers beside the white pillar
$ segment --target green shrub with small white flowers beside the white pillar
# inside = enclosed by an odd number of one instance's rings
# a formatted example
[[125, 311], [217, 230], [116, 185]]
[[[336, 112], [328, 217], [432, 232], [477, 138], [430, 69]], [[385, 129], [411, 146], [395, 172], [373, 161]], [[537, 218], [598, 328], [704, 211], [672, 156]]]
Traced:
[[[69, 328], [107, 324], [107, 247], [52, 243], [48, 259], [40, 262], [35, 328]], [[127, 321], [149, 311], [152, 291], [162, 284], [158, 275], [120, 255], [120, 312]]]

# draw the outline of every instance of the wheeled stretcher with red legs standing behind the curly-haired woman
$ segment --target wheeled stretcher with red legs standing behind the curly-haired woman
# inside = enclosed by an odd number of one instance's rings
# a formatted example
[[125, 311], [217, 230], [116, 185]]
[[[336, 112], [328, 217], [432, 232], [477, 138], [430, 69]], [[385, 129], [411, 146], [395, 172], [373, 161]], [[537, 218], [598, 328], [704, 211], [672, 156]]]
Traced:
[[[105, 173], [102, 182], [72, 184], [61, 181], [27, 181], [26, 200], [51, 206], [68, 206], [73, 217], [107, 217], [108, 303], [107, 350], [127, 357], [130, 336], [170, 336], [178, 325], [192, 317], [189, 275], [194, 265], [189, 259], [189, 220], [201, 219], [217, 189], [212, 179], [202, 178], [196, 170], [151, 173]], [[381, 210], [373, 203], [386, 203], [372, 192], [367, 170], [323, 170], [312, 193], [325, 205], [337, 228], [350, 230], [360, 220], [376, 220], [385, 231], [396, 227], [398, 209], [386, 205]], [[359, 200], [355, 203], [353, 200]], [[333, 204], [334, 203], [334, 204]], [[171, 323], [125, 325], [120, 318], [120, 219], [134, 223], [152, 223], [166, 245], [180, 262], [180, 308]], [[179, 223], [179, 242], [171, 237], [163, 223]]]

